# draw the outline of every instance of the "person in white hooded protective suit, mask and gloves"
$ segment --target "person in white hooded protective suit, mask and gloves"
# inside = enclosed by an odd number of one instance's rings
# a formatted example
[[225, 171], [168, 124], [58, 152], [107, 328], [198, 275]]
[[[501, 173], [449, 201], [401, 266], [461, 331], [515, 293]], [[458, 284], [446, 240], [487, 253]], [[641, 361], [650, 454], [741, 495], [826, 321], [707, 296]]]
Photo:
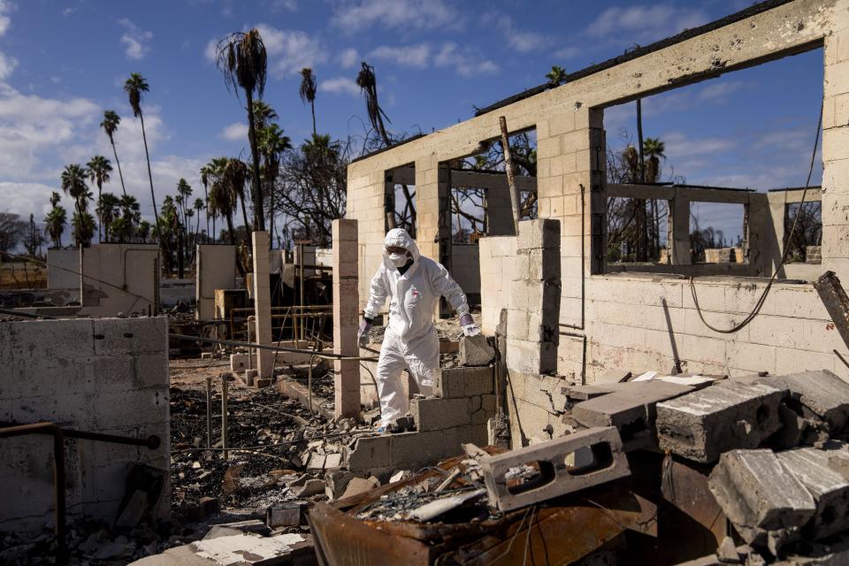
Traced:
[[433, 313], [440, 295], [460, 315], [463, 334], [480, 333], [469, 314], [463, 289], [441, 264], [418, 253], [416, 241], [401, 228], [386, 233], [383, 263], [371, 279], [371, 296], [363, 311], [357, 338], [360, 346], [370, 343], [369, 331], [378, 310], [389, 297], [389, 322], [378, 360], [380, 426], [388, 427], [408, 410], [401, 374], [404, 369], [416, 379], [419, 389], [429, 393], [440, 367], [440, 340], [433, 326]]

